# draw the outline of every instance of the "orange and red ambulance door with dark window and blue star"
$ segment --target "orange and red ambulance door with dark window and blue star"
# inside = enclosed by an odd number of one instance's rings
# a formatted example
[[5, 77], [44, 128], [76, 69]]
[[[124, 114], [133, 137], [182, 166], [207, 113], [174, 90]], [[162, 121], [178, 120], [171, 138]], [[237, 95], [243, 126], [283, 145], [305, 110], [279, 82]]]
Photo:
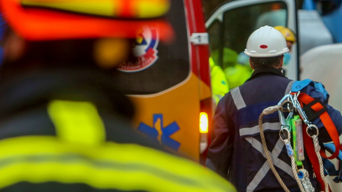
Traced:
[[134, 103], [137, 131], [199, 161], [206, 136], [200, 114], [211, 110], [208, 35], [200, 0], [170, 2], [165, 18], [174, 39], [159, 41], [158, 26], [142, 27], [133, 46], [136, 60], [118, 67], [116, 84]]

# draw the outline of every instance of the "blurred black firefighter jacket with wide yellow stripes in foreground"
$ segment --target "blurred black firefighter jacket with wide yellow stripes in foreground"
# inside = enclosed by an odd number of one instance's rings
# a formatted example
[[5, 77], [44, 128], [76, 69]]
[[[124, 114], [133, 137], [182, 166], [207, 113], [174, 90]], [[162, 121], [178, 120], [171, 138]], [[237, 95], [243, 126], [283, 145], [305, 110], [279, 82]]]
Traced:
[[94, 69], [0, 85], [1, 192], [235, 191], [131, 129], [133, 106]]

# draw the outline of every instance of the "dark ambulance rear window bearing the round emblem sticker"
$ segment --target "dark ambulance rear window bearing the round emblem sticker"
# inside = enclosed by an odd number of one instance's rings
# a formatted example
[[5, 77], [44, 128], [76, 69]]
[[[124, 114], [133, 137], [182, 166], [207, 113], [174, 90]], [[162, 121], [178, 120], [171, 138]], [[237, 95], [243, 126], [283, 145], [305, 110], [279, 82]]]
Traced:
[[183, 0], [171, 1], [166, 18], [175, 31], [174, 41], [171, 44], [159, 42], [154, 26], [143, 27], [133, 45], [137, 61], [124, 63], [115, 72], [115, 83], [125, 94], [159, 93], [189, 76], [189, 41]]

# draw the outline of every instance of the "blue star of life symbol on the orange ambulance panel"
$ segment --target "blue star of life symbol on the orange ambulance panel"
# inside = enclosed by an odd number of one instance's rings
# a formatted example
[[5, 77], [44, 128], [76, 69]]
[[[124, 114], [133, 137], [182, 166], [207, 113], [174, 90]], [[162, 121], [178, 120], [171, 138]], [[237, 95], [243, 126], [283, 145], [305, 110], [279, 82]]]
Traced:
[[181, 143], [170, 138], [170, 135], [179, 130], [179, 126], [176, 122], [172, 122], [170, 125], [163, 127], [163, 115], [153, 114], [153, 127], [140, 123], [138, 130], [148, 135], [151, 138], [157, 139], [161, 144], [178, 151]]

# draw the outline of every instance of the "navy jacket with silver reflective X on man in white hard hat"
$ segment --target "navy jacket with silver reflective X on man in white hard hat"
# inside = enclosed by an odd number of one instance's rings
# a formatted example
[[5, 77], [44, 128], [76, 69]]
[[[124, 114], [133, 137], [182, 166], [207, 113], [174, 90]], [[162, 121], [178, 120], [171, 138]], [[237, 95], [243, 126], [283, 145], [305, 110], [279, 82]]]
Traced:
[[[206, 164], [231, 181], [239, 192], [283, 191], [267, 163], [258, 118], [263, 109], [277, 105], [279, 100], [290, 92], [293, 82], [276, 68], [259, 67], [243, 85], [232, 89], [219, 101], [212, 121], [212, 142]], [[311, 85], [302, 92], [319, 98], [326, 105], [328, 103], [323, 94]], [[327, 108], [338, 133], [341, 134], [341, 113], [329, 105]], [[319, 118], [312, 122], [319, 128], [319, 141], [329, 141], [330, 137]], [[277, 172], [291, 191], [299, 191], [292, 173], [290, 157], [284, 142], [279, 138], [277, 112], [264, 116], [263, 128]], [[308, 170], [313, 185], [317, 186], [318, 182], [313, 178], [313, 170], [310, 168], [312, 166], [306, 153], [303, 165]]]

